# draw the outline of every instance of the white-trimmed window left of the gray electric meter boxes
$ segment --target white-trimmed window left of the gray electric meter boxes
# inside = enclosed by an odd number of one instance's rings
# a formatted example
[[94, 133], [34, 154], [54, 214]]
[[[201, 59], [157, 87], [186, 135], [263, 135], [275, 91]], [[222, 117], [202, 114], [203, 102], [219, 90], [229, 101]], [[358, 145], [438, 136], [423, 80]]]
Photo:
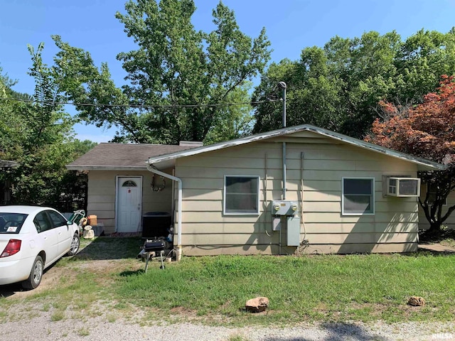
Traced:
[[225, 175], [223, 213], [259, 214], [259, 176]]

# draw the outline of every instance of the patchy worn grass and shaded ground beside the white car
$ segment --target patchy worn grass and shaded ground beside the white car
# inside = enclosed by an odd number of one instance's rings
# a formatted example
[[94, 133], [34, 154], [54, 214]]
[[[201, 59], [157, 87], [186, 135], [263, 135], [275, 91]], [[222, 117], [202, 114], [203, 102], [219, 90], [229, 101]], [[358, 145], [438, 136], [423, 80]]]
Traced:
[[[119, 272], [136, 270], [137, 266], [142, 266], [135, 258], [141, 243], [139, 238], [81, 239], [79, 254], [60, 259], [44, 274], [44, 280], [46, 277], [55, 277], [50, 286], [41, 283], [36, 291], [28, 291], [26, 295], [18, 293], [16, 299], [14, 292], [5, 291], [5, 297], [0, 297], [0, 311], [13, 312], [15, 305], [38, 305], [45, 312], [52, 307], [60, 312], [69, 309], [73, 313], [99, 315], [106, 302], [114, 300], [112, 286]], [[11, 286], [11, 289], [14, 288]], [[21, 290], [20, 286], [17, 288]], [[4, 320], [14, 320], [12, 313], [5, 315]], [[50, 318], [58, 320], [57, 315], [51, 315]]]

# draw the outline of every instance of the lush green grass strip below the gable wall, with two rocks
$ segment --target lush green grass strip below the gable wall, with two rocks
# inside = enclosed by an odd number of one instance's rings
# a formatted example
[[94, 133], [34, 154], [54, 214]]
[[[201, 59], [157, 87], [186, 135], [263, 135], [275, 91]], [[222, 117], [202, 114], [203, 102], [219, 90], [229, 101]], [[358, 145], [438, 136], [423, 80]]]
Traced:
[[[184, 257], [165, 271], [149, 267], [147, 274], [122, 276], [117, 295], [139, 307], [218, 314], [240, 324], [451, 320], [454, 261], [428, 253]], [[413, 295], [427, 305], [408, 306]], [[257, 296], [270, 301], [262, 318], [242, 311]]]

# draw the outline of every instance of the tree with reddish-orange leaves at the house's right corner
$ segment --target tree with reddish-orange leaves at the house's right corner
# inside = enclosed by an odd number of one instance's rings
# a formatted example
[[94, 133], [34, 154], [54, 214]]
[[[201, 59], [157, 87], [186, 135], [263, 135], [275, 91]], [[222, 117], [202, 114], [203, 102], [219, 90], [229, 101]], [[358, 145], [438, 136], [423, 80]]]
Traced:
[[447, 166], [445, 171], [419, 172], [422, 181], [435, 192], [430, 197], [427, 190], [426, 197], [419, 198], [430, 233], [441, 231], [443, 222], [455, 210], [454, 205], [443, 212], [446, 197], [455, 188], [455, 82], [454, 76], [441, 78], [437, 91], [426, 94], [424, 102], [416, 107], [380, 102], [382, 120], [376, 119], [365, 137], [365, 141]]

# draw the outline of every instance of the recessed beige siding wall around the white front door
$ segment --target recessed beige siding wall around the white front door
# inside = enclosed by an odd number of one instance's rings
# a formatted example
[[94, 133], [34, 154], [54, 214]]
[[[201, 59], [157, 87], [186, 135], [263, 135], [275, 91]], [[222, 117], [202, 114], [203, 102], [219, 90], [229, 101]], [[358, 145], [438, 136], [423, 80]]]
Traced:
[[[167, 170], [170, 172], [170, 170]], [[166, 188], [151, 190], [149, 171], [90, 171], [88, 174], [87, 214], [96, 215], [105, 227], [105, 233], [115, 232], [115, 191], [117, 175], [142, 176], [142, 213], [159, 211], [171, 213], [172, 181], [166, 179]], [[161, 177], [155, 176], [156, 185]]]

